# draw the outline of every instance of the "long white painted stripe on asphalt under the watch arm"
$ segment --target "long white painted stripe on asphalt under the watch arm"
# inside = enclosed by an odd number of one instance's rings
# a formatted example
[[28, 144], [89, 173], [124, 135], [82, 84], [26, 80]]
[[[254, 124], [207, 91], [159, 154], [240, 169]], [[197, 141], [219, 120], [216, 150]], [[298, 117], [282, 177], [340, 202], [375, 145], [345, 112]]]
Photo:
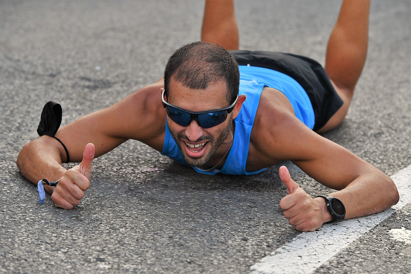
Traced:
[[319, 231], [303, 232], [250, 267], [252, 274], [312, 273], [361, 235], [411, 201], [411, 165], [391, 176], [399, 192], [397, 205], [361, 218], [325, 224]]

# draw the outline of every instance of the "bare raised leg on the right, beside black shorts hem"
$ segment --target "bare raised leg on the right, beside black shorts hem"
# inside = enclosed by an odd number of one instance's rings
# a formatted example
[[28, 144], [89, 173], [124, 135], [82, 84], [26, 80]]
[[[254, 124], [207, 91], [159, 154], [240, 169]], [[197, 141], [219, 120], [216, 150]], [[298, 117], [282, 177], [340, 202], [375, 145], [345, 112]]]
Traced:
[[347, 114], [367, 56], [368, 17], [369, 0], [343, 1], [328, 40], [325, 70], [344, 104], [320, 133], [339, 125]]

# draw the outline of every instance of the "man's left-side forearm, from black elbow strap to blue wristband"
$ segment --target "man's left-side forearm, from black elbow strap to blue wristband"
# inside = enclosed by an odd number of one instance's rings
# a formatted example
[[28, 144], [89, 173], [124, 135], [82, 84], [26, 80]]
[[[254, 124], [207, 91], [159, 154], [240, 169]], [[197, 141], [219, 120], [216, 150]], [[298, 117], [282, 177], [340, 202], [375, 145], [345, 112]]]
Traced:
[[[42, 136], [23, 147], [18, 154], [17, 166], [21, 174], [33, 184], [42, 178], [48, 181], [57, 181], [66, 172], [61, 165], [62, 157], [57, 140]], [[44, 186], [51, 193], [53, 187]]]

